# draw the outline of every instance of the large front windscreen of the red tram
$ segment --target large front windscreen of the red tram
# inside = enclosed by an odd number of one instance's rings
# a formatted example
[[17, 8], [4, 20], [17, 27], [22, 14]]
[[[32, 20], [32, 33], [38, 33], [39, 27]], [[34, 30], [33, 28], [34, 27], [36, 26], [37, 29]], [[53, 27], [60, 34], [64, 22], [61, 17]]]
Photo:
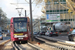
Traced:
[[14, 22], [14, 32], [26, 32], [27, 23], [25, 22]]

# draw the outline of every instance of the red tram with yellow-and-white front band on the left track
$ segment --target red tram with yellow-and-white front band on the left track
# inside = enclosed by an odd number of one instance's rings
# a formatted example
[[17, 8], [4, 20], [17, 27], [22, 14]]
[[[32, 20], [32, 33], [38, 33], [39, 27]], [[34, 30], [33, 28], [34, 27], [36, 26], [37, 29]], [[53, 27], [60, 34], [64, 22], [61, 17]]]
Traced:
[[12, 17], [10, 20], [11, 41], [25, 43], [30, 39], [29, 17]]

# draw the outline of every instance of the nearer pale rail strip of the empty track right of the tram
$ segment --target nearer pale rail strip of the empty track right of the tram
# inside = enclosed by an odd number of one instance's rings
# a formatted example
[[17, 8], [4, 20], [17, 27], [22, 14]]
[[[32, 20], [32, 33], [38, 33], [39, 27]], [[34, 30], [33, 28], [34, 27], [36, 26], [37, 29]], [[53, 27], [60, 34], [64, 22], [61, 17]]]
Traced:
[[68, 45], [65, 43], [58, 43], [57, 41], [52, 41], [43, 37], [35, 37], [36, 39], [45, 42], [46, 45], [48, 46], [53, 46], [56, 47], [60, 50], [75, 50], [75, 46], [74, 45]]

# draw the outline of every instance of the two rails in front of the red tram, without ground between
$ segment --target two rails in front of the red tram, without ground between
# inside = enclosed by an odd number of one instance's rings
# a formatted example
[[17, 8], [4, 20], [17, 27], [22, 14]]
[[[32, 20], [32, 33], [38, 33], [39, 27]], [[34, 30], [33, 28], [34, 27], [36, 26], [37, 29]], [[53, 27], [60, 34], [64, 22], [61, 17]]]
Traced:
[[[31, 43], [26, 43], [28, 45], [28, 47], [31, 47], [32, 49], [35, 49], [35, 50], [43, 50], [42, 48], [36, 46], [36, 45], [33, 45]], [[23, 45], [26, 45], [26, 44], [23, 44]], [[21, 44], [20, 44], [21, 45]], [[13, 49], [14, 50], [23, 50], [24, 48], [22, 48], [19, 44], [13, 42]]]

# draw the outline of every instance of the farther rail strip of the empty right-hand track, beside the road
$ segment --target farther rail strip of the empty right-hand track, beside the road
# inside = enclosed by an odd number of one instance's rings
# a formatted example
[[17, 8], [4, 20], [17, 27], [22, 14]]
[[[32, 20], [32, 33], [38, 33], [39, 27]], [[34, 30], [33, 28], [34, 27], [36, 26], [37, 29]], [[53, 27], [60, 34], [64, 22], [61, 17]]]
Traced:
[[[43, 39], [46, 39], [48, 41], [54, 41], [54, 42], [57, 42], [59, 44], [62, 44], [62, 45], [66, 45], [66, 46], [69, 46], [69, 47], [74, 47], [75, 48], [75, 45], [74, 44], [70, 44], [70, 43], [65, 43], [63, 40], [59, 40], [59, 39], [54, 39], [52, 37], [45, 37], [45, 36], [41, 36], [40, 38], [43, 38]], [[69, 41], [66, 41], [66, 42], [69, 42]], [[74, 43], [74, 42], [73, 42]]]

